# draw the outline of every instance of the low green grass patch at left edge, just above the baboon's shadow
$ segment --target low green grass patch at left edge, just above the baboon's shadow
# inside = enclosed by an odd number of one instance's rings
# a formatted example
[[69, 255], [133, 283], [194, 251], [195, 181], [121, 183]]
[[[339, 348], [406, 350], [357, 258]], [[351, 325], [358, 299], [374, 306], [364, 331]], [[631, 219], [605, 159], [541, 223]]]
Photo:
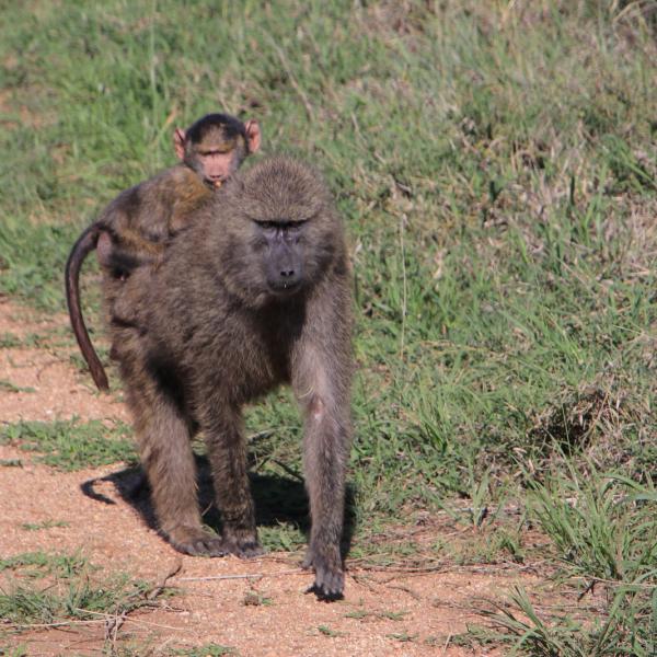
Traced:
[[129, 427], [122, 423], [108, 427], [100, 420], [19, 422], [0, 429], [0, 442], [37, 452], [38, 461], [68, 472], [117, 461], [135, 462], [129, 435]]

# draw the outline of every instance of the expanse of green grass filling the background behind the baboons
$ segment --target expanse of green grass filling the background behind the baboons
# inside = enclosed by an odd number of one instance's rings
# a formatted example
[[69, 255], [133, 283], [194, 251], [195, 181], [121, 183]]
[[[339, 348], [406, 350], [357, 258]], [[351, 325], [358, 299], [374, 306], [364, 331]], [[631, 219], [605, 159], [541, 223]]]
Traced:
[[[649, 633], [632, 627], [649, 626], [655, 584], [656, 9], [5, 3], [0, 292], [62, 311], [76, 235], [173, 162], [173, 126], [254, 116], [265, 152], [324, 170], [348, 228], [354, 550], [365, 527], [458, 497], [476, 531], [498, 522], [491, 508], [531, 507], [564, 577], [611, 583], [597, 654], [647, 654]], [[92, 272], [97, 328], [95, 284]], [[289, 401], [247, 414], [258, 474], [301, 473]], [[77, 458], [55, 451], [60, 468]], [[525, 558], [522, 530], [462, 557]], [[266, 542], [293, 548], [297, 533]]]

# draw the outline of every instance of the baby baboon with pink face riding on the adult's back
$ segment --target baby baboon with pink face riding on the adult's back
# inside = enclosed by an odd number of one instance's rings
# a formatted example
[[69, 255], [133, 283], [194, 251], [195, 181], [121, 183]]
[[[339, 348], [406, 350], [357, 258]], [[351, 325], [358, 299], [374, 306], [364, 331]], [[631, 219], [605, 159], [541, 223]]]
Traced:
[[243, 124], [227, 114], [208, 114], [186, 131], [176, 129], [180, 164], [119, 194], [76, 242], [66, 265], [66, 298], [73, 332], [95, 384], [107, 389], [107, 377], [93, 349], [80, 310], [80, 268], [96, 249], [103, 267], [105, 308], [110, 321], [135, 324], [131, 288], [143, 285], [168, 241], [180, 232], [194, 210], [260, 148], [257, 122]]

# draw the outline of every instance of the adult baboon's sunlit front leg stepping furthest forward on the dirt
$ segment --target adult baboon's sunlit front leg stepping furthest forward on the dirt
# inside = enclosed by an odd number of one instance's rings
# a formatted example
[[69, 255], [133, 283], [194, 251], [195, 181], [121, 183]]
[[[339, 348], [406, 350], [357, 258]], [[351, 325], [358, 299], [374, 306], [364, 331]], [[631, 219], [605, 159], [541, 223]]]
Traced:
[[312, 519], [303, 565], [315, 570], [315, 592], [337, 598], [345, 585], [341, 540], [350, 445], [348, 382], [335, 385], [316, 354], [302, 358], [298, 374], [293, 384], [306, 415], [303, 470]]

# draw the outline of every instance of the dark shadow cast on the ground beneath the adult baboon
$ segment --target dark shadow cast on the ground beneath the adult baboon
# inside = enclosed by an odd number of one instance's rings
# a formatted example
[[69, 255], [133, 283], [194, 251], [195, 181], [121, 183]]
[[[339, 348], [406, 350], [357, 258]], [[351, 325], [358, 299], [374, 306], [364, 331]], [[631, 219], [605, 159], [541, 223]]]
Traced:
[[[196, 456], [196, 469], [198, 500], [204, 522], [220, 534], [221, 514], [215, 506], [212, 477], [206, 457]], [[303, 483], [292, 477], [258, 473], [250, 474], [250, 480], [257, 526], [276, 527], [280, 523], [290, 523], [298, 527], [308, 540], [310, 508]], [[116, 504], [115, 499], [96, 489], [103, 487], [103, 483], [112, 484], [118, 497], [131, 506], [148, 527], [158, 529], [150, 500], [150, 486], [139, 465], [124, 468], [103, 477], [88, 480], [80, 485], [82, 493], [88, 497], [103, 504]], [[354, 497], [353, 486], [347, 485], [343, 557], [346, 557], [349, 552], [356, 529]]]

